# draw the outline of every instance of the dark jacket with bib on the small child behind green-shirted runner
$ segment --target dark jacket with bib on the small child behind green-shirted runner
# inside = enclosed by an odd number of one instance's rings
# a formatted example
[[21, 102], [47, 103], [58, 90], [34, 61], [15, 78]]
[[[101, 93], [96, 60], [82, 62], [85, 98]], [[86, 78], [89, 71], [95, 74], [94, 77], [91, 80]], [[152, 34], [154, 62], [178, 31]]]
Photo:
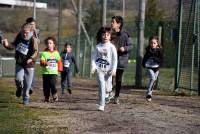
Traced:
[[75, 66], [75, 71], [78, 73], [79, 69], [76, 63], [76, 60], [72, 53], [66, 53], [65, 51], [61, 52], [61, 58], [63, 63], [63, 71], [71, 71], [72, 64]]

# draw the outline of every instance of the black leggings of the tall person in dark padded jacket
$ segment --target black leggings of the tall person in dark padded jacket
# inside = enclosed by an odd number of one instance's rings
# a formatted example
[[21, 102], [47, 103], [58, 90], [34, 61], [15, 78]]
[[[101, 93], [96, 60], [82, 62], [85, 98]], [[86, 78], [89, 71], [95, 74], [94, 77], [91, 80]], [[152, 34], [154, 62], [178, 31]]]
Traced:
[[115, 77], [115, 82], [116, 82], [115, 97], [119, 97], [120, 90], [121, 90], [121, 85], [122, 85], [123, 73], [124, 73], [123, 69], [117, 69], [116, 77]]

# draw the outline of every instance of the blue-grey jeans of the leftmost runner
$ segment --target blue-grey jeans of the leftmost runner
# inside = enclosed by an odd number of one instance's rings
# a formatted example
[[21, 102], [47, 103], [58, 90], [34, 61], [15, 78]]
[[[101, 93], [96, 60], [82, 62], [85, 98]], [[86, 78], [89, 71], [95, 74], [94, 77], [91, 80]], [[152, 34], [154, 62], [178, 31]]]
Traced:
[[23, 88], [23, 98], [29, 98], [29, 90], [33, 80], [34, 68], [26, 68], [19, 64], [15, 65], [15, 81], [17, 88]]

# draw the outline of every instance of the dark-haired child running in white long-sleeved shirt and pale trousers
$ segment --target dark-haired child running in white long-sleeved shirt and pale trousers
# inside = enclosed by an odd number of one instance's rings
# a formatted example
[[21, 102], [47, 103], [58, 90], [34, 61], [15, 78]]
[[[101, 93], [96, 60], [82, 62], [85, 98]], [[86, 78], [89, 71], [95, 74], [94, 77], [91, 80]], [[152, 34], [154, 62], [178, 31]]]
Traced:
[[97, 33], [97, 46], [92, 55], [91, 73], [97, 73], [99, 85], [98, 110], [104, 111], [106, 91], [112, 90], [112, 75], [116, 74], [117, 50], [110, 42], [111, 28], [101, 27]]

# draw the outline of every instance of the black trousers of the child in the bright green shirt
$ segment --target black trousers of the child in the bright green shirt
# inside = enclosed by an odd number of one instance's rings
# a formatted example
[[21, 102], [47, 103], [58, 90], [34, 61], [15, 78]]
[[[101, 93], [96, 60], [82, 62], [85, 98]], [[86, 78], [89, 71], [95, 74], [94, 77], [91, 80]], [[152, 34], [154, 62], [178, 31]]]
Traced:
[[57, 93], [56, 83], [57, 83], [57, 75], [43, 74], [43, 92], [45, 97], [49, 97], [50, 92], [52, 95]]

